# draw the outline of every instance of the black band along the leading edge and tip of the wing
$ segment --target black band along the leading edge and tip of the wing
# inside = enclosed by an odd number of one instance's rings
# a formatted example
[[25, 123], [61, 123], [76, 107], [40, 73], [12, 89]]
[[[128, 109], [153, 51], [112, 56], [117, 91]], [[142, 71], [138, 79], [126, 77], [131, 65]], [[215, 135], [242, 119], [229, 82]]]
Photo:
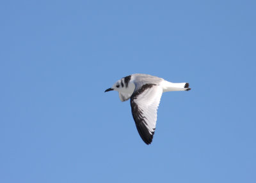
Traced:
[[136, 92], [134, 92], [131, 96], [132, 117], [135, 121], [136, 128], [138, 130], [138, 133], [140, 134], [140, 137], [147, 145], [152, 142], [154, 131], [152, 132], [152, 134], [150, 133], [149, 129], [147, 128], [147, 122], [145, 120], [146, 117], [143, 114], [143, 110], [139, 108], [134, 99], [138, 98], [141, 93], [143, 93], [147, 89], [150, 89], [154, 85], [156, 84], [145, 84]]

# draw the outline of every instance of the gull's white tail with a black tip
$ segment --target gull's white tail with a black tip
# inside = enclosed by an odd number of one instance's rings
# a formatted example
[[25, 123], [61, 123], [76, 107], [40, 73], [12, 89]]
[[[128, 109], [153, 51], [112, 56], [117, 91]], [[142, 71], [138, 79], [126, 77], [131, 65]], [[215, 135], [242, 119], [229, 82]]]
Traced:
[[168, 92], [168, 91], [189, 91], [191, 90], [189, 88], [189, 83], [172, 83], [164, 80], [161, 83], [163, 87], [163, 92]]

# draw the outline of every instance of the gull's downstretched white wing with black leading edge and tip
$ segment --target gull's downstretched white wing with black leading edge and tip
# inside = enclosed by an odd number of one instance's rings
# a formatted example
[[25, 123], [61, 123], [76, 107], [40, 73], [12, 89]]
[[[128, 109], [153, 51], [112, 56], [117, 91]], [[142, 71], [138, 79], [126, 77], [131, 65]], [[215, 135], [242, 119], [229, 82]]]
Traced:
[[156, 84], [144, 84], [131, 96], [132, 117], [142, 140], [150, 144], [156, 129], [157, 108], [163, 93]]

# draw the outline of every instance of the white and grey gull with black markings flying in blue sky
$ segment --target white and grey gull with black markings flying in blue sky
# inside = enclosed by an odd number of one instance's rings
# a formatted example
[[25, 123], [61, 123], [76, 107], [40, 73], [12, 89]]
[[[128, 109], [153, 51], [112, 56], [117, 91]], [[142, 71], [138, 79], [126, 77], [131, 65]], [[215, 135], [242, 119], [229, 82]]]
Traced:
[[136, 128], [148, 145], [153, 140], [157, 108], [163, 92], [189, 90], [189, 83], [172, 83], [152, 75], [132, 74], [121, 78], [105, 92], [118, 91], [121, 101], [130, 99]]

